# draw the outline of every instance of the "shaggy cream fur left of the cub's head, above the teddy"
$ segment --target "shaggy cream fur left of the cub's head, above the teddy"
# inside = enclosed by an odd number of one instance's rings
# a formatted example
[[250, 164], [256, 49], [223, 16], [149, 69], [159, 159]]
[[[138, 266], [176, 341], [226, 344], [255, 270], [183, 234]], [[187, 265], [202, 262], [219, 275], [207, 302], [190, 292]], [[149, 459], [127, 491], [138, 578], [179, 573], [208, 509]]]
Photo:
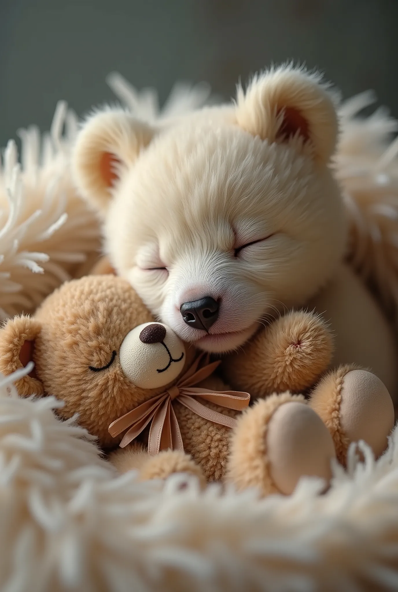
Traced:
[[[94, 263], [97, 220], [76, 194], [69, 152], [78, 120], [59, 102], [50, 133], [20, 130], [0, 166], [0, 315], [33, 311], [60, 283]], [[1, 162], [0, 162], [1, 165]]]

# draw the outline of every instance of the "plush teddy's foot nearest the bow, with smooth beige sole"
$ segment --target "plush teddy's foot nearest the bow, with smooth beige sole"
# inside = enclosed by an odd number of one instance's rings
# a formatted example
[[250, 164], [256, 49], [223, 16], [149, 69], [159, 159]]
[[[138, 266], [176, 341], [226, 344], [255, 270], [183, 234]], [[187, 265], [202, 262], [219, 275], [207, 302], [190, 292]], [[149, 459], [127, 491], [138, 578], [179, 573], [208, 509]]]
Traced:
[[286, 392], [259, 400], [237, 420], [226, 480], [262, 495], [290, 494], [303, 475], [329, 481], [333, 440], [302, 395]]

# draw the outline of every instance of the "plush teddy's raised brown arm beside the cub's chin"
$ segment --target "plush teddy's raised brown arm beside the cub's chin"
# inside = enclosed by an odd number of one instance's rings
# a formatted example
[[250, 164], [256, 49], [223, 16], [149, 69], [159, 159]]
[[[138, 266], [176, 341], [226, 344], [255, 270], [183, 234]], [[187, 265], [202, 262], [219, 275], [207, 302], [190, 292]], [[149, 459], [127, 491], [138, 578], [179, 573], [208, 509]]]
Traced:
[[330, 363], [333, 340], [322, 317], [293, 311], [277, 318], [223, 361], [232, 388], [265, 397], [311, 387]]

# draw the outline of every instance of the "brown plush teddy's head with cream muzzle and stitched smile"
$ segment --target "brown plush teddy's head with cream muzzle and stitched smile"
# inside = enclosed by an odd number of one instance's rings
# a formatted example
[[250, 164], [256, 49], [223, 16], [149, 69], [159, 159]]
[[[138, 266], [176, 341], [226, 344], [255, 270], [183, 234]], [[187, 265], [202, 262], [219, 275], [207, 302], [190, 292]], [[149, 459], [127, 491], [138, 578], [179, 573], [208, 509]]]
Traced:
[[115, 276], [86, 276], [63, 284], [34, 317], [15, 317], [0, 331], [0, 371], [32, 360], [16, 386], [21, 395], [55, 395], [63, 418], [117, 445], [110, 423], [163, 392], [194, 356], [166, 325], [156, 323], [130, 284]]

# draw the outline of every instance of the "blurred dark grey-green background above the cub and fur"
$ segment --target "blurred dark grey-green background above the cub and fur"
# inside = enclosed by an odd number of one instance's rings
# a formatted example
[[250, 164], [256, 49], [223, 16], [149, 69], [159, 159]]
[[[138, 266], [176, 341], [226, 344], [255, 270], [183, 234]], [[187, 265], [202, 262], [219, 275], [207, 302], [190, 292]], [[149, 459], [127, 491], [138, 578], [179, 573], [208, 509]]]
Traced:
[[239, 76], [286, 59], [398, 117], [398, 0], [0, 0], [0, 145], [50, 126], [58, 99], [84, 114], [118, 70], [164, 101], [177, 79], [226, 98]]

